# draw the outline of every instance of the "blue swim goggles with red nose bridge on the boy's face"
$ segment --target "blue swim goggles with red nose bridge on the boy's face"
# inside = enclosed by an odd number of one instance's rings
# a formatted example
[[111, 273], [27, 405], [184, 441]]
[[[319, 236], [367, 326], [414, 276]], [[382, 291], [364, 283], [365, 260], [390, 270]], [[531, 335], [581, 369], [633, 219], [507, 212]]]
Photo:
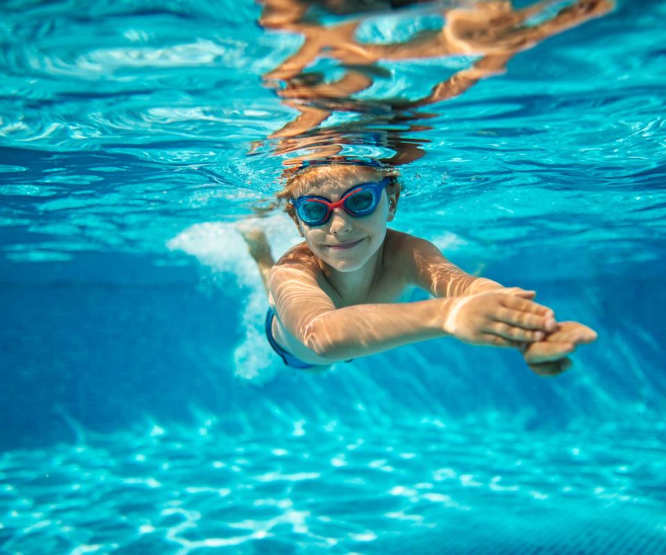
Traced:
[[382, 198], [384, 187], [391, 182], [386, 177], [377, 183], [361, 183], [354, 185], [343, 193], [340, 200], [332, 203], [322, 196], [305, 195], [289, 202], [296, 208], [301, 221], [307, 225], [323, 225], [326, 223], [335, 208], [343, 207], [350, 216], [367, 216], [375, 212], [375, 208]]

